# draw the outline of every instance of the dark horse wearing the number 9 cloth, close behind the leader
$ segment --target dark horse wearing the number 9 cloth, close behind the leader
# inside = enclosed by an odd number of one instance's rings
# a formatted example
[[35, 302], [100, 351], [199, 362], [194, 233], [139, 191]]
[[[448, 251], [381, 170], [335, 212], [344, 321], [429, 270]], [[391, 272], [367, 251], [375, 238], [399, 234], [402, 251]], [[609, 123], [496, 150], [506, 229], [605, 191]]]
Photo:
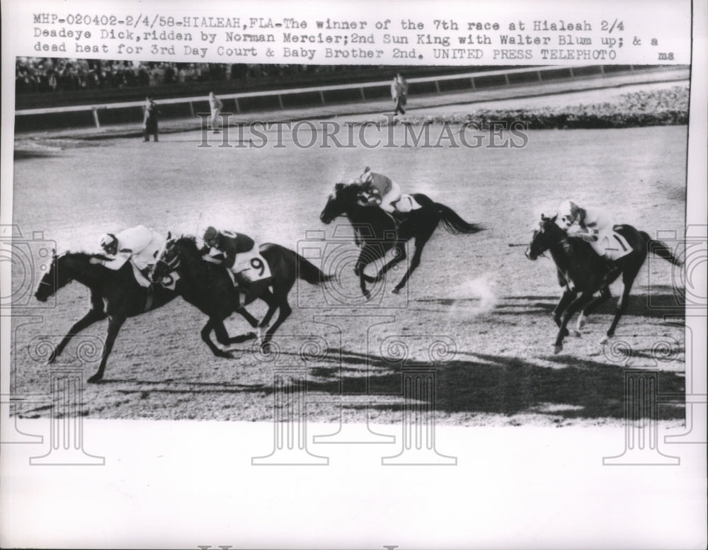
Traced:
[[[254, 328], [256, 326], [265, 328], [273, 319], [275, 311], [280, 309], [278, 319], [268, 328], [261, 343], [263, 350], [267, 351], [273, 333], [292, 313], [292, 308], [287, 303], [287, 295], [297, 278], [304, 279], [312, 285], [319, 285], [331, 279], [330, 275], [325, 275], [308, 260], [284, 246], [263, 244], [260, 251], [268, 262], [271, 277], [249, 283], [244, 294], [239, 292], [241, 287], [234, 287], [226, 268], [202, 259], [202, 253], [192, 236], [169, 240], [152, 270], [153, 280], [161, 280], [172, 272], [179, 275], [181, 296], [209, 316], [209, 320], [202, 328], [202, 340], [218, 357], [232, 357], [232, 355], [212, 343], [209, 338], [212, 329], [216, 331], [217, 340], [223, 345], [256, 338], [253, 333], [229, 338], [224, 328], [224, 319], [232, 313], [243, 315]], [[272, 292], [269, 286], [273, 287]], [[256, 299], [262, 299], [268, 304], [268, 311], [261, 323], [258, 323], [244, 309], [244, 306]]]

